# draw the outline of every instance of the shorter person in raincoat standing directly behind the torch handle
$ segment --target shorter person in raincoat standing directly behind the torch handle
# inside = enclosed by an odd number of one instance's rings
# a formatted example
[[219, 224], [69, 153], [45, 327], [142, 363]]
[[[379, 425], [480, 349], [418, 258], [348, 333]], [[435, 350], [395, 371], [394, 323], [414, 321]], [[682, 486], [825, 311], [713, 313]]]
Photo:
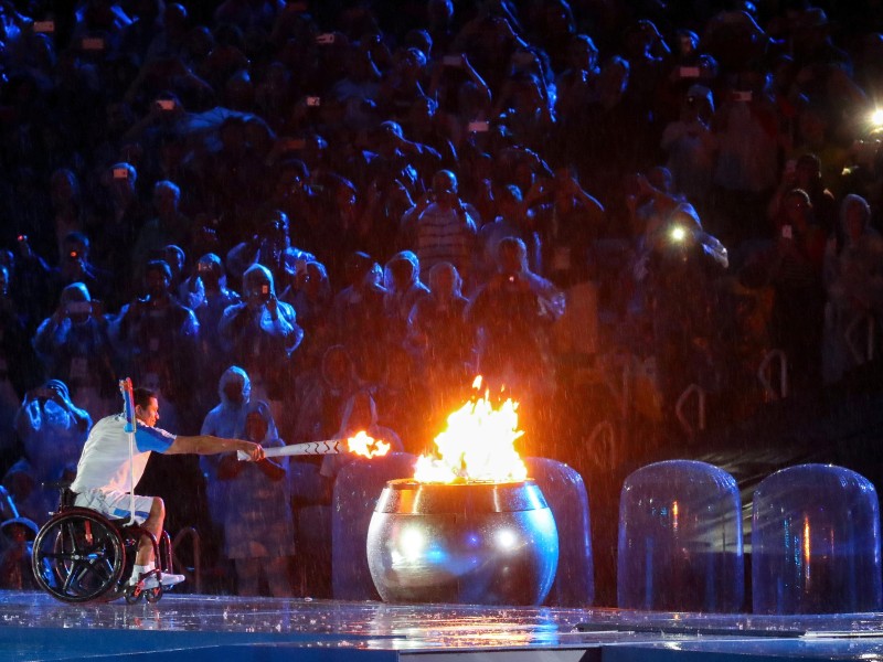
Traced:
[[[244, 414], [237, 438], [252, 439], [265, 448], [284, 446], [275, 434], [267, 403], [249, 402]], [[223, 517], [224, 556], [235, 563], [241, 596], [257, 595], [262, 575], [274, 596], [291, 595], [288, 557], [295, 553], [295, 528], [287, 470], [285, 457], [241, 462], [235, 453], [225, 455], [219, 466], [219, 480], [226, 484], [231, 505]]]

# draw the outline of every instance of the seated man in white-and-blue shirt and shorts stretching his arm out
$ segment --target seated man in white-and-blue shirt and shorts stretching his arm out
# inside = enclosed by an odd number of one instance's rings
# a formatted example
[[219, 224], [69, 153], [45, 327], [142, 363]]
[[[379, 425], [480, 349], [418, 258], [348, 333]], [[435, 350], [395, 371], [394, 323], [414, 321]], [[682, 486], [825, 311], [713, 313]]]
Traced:
[[[264, 449], [258, 444], [242, 439], [222, 439], [210, 435], [192, 437], [175, 436], [156, 427], [159, 420], [157, 397], [148, 388], [134, 391], [135, 403], [135, 448], [129, 450], [126, 433], [126, 416], [107, 416], [92, 428], [76, 469], [76, 479], [71, 490], [76, 494], [74, 505], [88, 508], [113, 519], [131, 516], [129, 492], [141, 480], [151, 451], [163, 455], [195, 453], [214, 455], [241, 450], [253, 461], [264, 458]], [[135, 520], [159, 540], [166, 517], [166, 508], [158, 496], [134, 498]], [[143, 536], [139, 541], [129, 584], [136, 584], [142, 575], [143, 588], [157, 588], [153, 545]], [[183, 575], [162, 573], [163, 586], [183, 581]]]

